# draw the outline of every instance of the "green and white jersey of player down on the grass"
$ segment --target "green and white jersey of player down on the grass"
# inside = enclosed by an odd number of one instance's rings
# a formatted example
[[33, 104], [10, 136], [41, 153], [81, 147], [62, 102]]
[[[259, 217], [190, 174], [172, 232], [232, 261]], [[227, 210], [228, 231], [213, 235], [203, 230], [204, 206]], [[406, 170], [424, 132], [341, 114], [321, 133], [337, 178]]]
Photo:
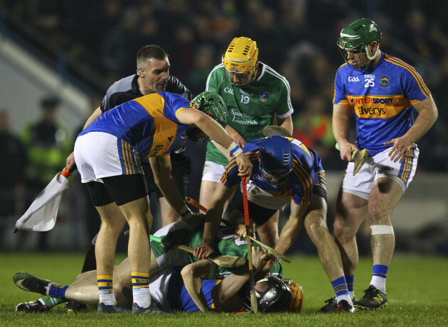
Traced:
[[[203, 225], [200, 226], [196, 224], [188, 224], [185, 221], [178, 221], [161, 228], [154, 235], [161, 238], [161, 243], [151, 240], [151, 250], [154, 253], [154, 256], [156, 258], [161, 256], [176, 258], [178, 256], [172, 255], [169, 252], [181, 251], [183, 253], [183, 250], [179, 250], [174, 246], [166, 244], [187, 245], [190, 248], [196, 248], [202, 243]], [[218, 245], [218, 255], [235, 255], [237, 257], [244, 257], [246, 260], [248, 259], [247, 242], [245, 238], [241, 238], [239, 235], [235, 234], [235, 230], [233, 230], [233, 228], [220, 227], [216, 235], [216, 244]], [[255, 243], [252, 245], [256, 248], [262, 248], [260, 245]], [[199, 259], [190, 253], [188, 254], [188, 261], [188, 263], [193, 263], [199, 261]], [[173, 266], [185, 265], [187, 262], [164, 262], [164, 265], [168, 264]], [[213, 273], [213, 279], [223, 279], [224, 277], [230, 275], [235, 269], [238, 268], [224, 268], [216, 266]], [[282, 278], [282, 265], [280, 265], [279, 262], [272, 267], [270, 275]]]

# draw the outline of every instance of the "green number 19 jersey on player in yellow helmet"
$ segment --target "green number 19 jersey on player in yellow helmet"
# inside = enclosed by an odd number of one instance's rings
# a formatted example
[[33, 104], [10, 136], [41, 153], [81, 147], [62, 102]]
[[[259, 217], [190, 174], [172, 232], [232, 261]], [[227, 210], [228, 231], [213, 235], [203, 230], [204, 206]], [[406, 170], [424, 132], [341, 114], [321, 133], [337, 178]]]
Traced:
[[[245, 87], [235, 87], [230, 83], [224, 66], [218, 65], [208, 75], [206, 90], [223, 98], [229, 112], [230, 127], [238, 131], [246, 142], [262, 138], [263, 128], [274, 123], [274, 116], [285, 118], [293, 112], [287, 79], [265, 64], [262, 64], [260, 77]], [[207, 145], [206, 160], [228, 164], [225, 156], [211, 142]]]

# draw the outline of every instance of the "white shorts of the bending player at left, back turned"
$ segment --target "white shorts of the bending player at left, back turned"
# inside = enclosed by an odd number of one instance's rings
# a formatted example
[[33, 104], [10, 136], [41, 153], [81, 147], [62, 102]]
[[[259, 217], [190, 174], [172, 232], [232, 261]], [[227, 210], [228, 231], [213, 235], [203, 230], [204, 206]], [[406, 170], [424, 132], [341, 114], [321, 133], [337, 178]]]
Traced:
[[102, 177], [122, 174], [143, 174], [137, 150], [102, 132], [90, 132], [76, 139], [75, 162], [82, 183], [102, 182]]

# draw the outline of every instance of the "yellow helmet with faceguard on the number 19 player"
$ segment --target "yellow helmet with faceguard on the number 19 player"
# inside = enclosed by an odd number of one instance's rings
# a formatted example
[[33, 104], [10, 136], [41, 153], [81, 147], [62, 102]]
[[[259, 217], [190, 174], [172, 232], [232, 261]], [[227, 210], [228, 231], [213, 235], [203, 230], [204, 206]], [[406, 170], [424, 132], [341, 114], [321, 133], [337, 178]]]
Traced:
[[223, 65], [228, 75], [242, 74], [244, 76], [250, 74], [248, 82], [241, 84], [233, 82], [233, 79], [227, 76], [230, 83], [237, 87], [243, 87], [252, 83], [255, 80], [258, 67], [257, 43], [250, 38], [234, 38], [223, 55]]

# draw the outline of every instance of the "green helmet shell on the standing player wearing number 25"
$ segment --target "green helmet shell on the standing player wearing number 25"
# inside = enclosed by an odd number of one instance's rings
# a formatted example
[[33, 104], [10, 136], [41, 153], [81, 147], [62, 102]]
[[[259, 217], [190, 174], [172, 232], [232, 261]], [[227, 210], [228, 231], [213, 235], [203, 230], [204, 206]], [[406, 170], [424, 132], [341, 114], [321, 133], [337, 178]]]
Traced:
[[[359, 51], [367, 56], [368, 60], [375, 59], [380, 45], [381, 31], [374, 21], [361, 18], [344, 27], [339, 34], [338, 47], [343, 51], [346, 60], [346, 51]], [[378, 43], [375, 54], [370, 55], [368, 46], [373, 41]]]

